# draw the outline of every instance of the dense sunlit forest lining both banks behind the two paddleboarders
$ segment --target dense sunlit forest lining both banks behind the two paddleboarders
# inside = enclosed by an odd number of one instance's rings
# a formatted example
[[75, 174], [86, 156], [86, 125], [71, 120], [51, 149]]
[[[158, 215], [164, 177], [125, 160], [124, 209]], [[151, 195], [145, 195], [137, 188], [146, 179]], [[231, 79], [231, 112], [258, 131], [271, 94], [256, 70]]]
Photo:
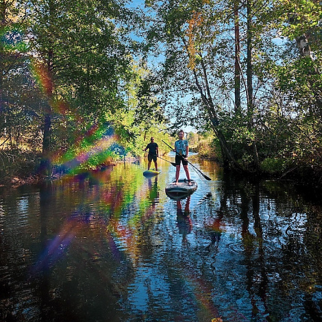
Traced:
[[149, 136], [170, 142], [190, 125], [200, 155], [227, 168], [320, 184], [321, 1], [1, 0], [0, 10], [1, 178], [142, 156]]

